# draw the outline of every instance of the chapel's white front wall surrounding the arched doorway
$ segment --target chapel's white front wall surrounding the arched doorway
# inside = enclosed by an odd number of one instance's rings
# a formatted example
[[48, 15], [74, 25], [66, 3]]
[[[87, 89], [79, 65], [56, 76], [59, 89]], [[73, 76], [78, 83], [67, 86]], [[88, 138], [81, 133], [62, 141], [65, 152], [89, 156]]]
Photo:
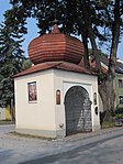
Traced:
[[[92, 118], [92, 131], [97, 131], [100, 129], [100, 119], [99, 119], [99, 111], [98, 114], [94, 112], [94, 108], [98, 107], [99, 109], [99, 97], [98, 97], [98, 80], [97, 76], [72, 73], [72, 72], [64, 72], [64, 70], [55, 70], [55, 90], [60, 90], [62, 103], [56, 105], [56, 129], [64, 130], [66, 133], [66, 121], [65, 121], [65, 106], [64, 99], [67, 90], [72, 86], [81, 86], [88, 92], [90, 100], [92, 101], [91, 105], [91, 118]], [[97, 92], [97, 105], [93, 103], [93, 92]], [[63, 124], [63, 128], [60, 128]]]

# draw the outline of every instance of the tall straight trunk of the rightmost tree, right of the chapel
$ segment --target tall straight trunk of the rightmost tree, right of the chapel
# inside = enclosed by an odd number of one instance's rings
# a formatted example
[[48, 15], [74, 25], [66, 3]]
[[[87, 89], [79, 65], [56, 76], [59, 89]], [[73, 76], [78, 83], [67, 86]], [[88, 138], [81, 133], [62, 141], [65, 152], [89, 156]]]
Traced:
[[109, 59], [109, 70], [107, 79], [107, 89], [108, 89], [108, 106], [109, 110], [114, 110], [114, 89], [113, 80], [115, 77], [115, 63], [116, 63], [116, 52], [120, 37], [120, 0], [115, 0], [114, 4], [114, 21], [112, 23], [112, 45]]

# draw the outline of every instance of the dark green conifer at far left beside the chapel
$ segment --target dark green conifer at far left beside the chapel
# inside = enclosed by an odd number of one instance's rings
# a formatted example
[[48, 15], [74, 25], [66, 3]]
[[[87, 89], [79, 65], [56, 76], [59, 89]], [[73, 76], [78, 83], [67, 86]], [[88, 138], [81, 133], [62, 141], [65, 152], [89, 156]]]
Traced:
[[12, 119], [14, 87], [12, 76], [22, 70], [21, 35], [13, 33], [5, 24], [0, 28], [0, 107], [11, 107]]

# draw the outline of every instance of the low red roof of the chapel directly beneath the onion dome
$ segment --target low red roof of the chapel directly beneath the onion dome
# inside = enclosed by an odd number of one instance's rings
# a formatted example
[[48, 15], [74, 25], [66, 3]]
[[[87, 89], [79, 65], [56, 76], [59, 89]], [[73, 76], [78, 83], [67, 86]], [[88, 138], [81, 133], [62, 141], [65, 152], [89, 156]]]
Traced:
[[13, 77], [20, 77], [51, 68], [56, 68], [56, 69], [62, 69], [62, 70], [68, 70], [68, 72], [76, 72], [76, 73], [82, 73], [82, 74], [88, 74], [88, 75], [94, 75], [97, 76], [97, 73], [90, 69], [86, 69], [85, 67], [81, 67], [79, 65], [68, 63], [68, 62], [46, 62], [42, 64], [34, 65], [30, 67], [26, 70], [23, 70], [22, 73], [19, 73], [14, 75]]

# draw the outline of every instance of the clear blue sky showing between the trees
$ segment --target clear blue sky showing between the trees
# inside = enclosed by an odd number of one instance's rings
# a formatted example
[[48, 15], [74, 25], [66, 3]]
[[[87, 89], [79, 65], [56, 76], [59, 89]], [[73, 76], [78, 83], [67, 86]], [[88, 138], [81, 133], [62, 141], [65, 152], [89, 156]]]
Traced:
[[[5, 10], [10, 9], [11, 6], [9, 4], [9, 0], [0, 0], [0, 23], [3, 21], [3, 13]], [[29, 43], [38, 36], [38, 30], [36, 26], [36, 21], [34, 19], [27, 19], [27, 34], [24, 35], [24, 42], [22, 43], [22, 48], [24, 50], [24, 55], [27, 55], [27, 46]], [[102, 51], [104, 53], [107, 53], [107, 51], [104, 48], [102, 48]], [[118, 48], [118, 57], [120, 59], [123, 61], [123, 36], [121, 40], [121, 43], [119, 44], [119, 48]]]

